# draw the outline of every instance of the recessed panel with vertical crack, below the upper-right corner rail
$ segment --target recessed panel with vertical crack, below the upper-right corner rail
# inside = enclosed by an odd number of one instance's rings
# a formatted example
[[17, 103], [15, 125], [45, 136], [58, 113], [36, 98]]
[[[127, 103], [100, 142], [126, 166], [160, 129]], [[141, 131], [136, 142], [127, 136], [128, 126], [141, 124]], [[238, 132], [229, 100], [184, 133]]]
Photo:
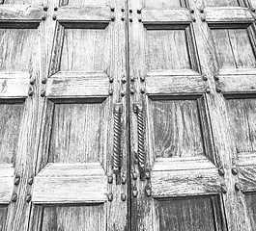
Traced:
[[255, 55], [245, 29], [212, 30], [219, 68], [255, 68]]

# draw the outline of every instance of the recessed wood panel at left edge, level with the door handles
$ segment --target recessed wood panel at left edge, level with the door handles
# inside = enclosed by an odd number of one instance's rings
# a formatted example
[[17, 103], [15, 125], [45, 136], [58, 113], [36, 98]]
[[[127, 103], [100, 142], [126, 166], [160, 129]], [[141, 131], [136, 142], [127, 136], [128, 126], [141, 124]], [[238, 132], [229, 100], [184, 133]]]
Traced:
[[0, 164], [14, 164], [24, 105], [0, 104]]

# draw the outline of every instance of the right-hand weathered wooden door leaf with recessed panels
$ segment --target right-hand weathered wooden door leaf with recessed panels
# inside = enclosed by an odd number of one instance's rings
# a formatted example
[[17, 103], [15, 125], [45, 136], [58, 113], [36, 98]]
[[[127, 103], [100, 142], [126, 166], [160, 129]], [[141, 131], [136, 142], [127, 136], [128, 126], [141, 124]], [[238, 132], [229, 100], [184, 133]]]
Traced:
[[128, 7], [131, 230], [256, 230], [255, 1]]

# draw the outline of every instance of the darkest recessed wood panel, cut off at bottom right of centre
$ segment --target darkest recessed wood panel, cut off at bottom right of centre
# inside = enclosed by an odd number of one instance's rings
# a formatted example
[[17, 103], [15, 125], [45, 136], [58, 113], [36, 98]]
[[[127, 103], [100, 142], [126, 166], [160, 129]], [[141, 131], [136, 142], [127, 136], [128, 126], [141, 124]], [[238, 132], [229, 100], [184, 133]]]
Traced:
[[222, 226], [221, 215], [214, 215], [215, 204], [211, 197], [172, 198], [159, 200], [158, 203], [161, 231], [222, 230], [216, 227], [216, 224]]

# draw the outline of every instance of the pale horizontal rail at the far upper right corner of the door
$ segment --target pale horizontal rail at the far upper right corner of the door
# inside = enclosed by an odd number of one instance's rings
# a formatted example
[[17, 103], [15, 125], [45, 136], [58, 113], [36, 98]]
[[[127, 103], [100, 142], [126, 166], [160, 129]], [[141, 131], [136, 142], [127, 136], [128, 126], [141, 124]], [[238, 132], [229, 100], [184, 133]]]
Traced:
[[254, 20], [251, 11], [242, 7], [206, 8], [205, 15], [208, 23], [252, 23]]

